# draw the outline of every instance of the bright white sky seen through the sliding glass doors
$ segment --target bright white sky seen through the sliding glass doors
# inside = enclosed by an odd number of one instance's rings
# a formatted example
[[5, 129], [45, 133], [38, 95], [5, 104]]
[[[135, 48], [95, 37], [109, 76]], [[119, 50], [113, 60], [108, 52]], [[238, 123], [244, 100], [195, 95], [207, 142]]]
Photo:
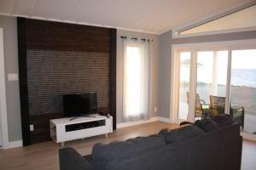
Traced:
[[[185, 61], [185, 67], [180, 71], [181, 81], [189, 81], [189, 65], [190, 53], [183, 52], [180, 54], [180, 60]], [[212, 63], [213, 52], [204, 51], [198, 52], [197, 55], [197, 82], [212, 82]], [[227, 78], [228, 67], [228, 51], [218, 51], [216, 60], [217, 82], [219, 84], [225, 84]], [[232, 69], [256, 69], [256, 49], [248, 50], [233, 50], [232, 51]]]

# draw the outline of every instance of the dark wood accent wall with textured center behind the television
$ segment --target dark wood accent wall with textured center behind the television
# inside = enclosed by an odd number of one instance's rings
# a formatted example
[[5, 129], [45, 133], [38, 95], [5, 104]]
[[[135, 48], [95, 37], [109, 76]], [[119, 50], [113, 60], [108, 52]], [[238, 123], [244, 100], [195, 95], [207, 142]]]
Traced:
[[24, 18], [17, 23], [23, 144], [49, 140], [49, 119], [63, 116], [63, 94], [96, 92], [98, 110], [113, 116], [115, 129], [116, 30]]

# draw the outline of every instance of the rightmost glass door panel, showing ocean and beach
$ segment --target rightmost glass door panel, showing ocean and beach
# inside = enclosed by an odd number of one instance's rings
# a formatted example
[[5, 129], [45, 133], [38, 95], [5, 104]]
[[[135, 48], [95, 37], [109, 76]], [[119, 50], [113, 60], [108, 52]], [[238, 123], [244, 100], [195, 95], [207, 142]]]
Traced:
[[256, 49], [233, 50], [230, 77], [230, 114], [256, 133]]

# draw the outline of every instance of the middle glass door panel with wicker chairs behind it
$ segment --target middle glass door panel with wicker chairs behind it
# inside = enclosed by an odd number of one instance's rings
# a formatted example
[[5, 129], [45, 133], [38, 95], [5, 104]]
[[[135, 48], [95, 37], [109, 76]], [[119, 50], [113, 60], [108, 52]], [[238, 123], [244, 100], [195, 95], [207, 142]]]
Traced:
[[198, 52], [196, 66], [195, 119], [224, 113], [228, 51]]

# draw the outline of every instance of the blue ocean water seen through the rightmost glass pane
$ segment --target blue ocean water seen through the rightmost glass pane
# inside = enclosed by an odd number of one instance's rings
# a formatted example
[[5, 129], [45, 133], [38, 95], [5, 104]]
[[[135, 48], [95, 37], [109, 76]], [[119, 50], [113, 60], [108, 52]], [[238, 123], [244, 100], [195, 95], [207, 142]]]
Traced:
[[232, 69], [231, 85], [256, 88], [256, 69]]

